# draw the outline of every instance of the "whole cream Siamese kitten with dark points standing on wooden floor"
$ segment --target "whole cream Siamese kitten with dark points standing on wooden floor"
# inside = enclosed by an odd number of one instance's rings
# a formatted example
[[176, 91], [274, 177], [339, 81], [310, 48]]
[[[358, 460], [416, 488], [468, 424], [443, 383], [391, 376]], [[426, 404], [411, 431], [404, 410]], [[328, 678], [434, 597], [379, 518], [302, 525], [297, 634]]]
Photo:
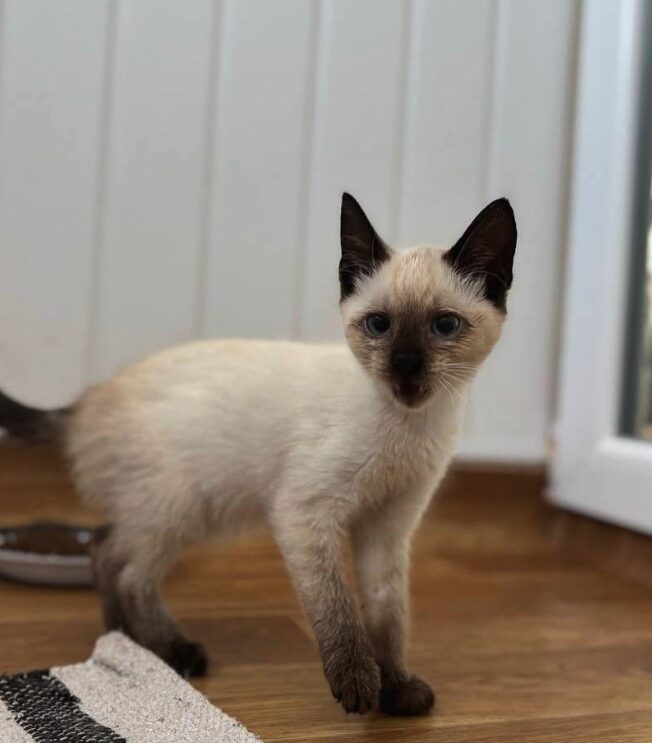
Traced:
[[346, 345], [190, 343], [66, 410], [2, 396], [0, 425], [60, 434], [81, 495], [108, 515], [94, 565], [109, 628], [181, 674], [204, 673], [204, 650], [167, 612], [161, 581], [191, 542], [267, 521], [334, 697], [347, 712], [423, 714], [434, 695], [405, 657], [410, 541], [500, 335], [516, 225], [500, 199], [450, 250], [399, 252], [344, 194], [341, 247]]

